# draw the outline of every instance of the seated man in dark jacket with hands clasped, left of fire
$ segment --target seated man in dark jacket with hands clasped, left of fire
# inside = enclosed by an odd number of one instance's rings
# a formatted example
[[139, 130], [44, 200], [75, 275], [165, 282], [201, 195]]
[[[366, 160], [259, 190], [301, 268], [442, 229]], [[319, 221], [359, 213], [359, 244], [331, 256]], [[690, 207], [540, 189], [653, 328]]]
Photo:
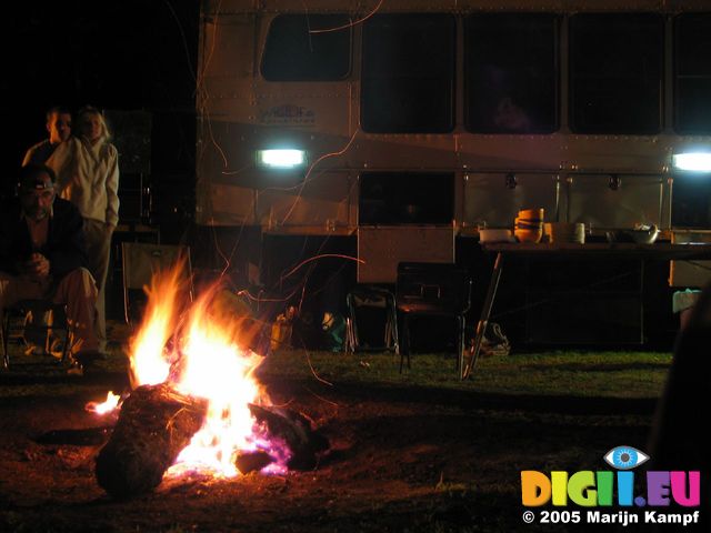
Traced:
[[54, 179], [43, 164], [23, 167], [18, 197], [0, 211], [0, 318], [20, 300], [66, 304], [71, 355], [81, 363], [100, 356], [93, 332], [97, 286], [84, 268], [81, 214], [56, 198]]

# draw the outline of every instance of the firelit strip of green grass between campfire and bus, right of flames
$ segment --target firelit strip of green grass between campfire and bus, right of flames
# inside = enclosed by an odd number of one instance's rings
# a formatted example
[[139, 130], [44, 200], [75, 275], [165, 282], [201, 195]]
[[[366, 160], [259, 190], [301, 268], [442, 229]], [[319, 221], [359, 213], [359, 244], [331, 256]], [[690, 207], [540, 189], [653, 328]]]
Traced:
[[471, 379], [457, 379], [453, 355], [413, 354], [399, 372], [392, 353], [334, 354], [283, 351], [266, 362], [267, 373], [327, 381], [414, 385], [499, 394], [655, 398], [671, 354], [624, 351], [551, 351], [479, 359]]

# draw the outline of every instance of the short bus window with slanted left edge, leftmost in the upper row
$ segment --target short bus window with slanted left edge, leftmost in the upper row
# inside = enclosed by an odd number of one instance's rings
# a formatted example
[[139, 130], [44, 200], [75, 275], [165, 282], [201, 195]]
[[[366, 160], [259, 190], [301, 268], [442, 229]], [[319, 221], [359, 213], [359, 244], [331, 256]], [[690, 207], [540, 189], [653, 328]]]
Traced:
[[[262, 76], [268, 81], [342, 80], [351, 68], [349, 22], [346, 14], [277, 17], [267, 34]], [[336, 28], [341, 29], [314, 32]]]

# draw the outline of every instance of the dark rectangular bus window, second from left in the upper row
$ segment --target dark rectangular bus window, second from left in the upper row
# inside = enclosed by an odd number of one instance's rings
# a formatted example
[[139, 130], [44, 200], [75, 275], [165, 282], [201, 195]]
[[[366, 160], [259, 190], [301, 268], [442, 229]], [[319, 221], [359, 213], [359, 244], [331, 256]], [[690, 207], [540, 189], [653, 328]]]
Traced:
[[363, 24], [361, 125], [375, 133], [454, 128], [455, 23], [450, 14], [379, 14]]

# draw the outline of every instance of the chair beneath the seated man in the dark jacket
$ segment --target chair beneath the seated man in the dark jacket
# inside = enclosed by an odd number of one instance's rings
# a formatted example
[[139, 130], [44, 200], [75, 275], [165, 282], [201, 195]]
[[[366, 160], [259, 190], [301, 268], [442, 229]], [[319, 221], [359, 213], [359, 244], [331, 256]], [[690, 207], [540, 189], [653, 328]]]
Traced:
[[[20, 300], [2, 312], [2, 368], [10, 368], [9, 341], [26, 341], [29, 330], [39, 332], [44, 341], [44, 353], [61, 352], [60, 362], [69, 356], [71, 329], [67, 320], [67, 305], [50, 300]], [[60, 336], [57, 333], [63, 332]], [[59, 345], [61, 350], [56, 350]]]

